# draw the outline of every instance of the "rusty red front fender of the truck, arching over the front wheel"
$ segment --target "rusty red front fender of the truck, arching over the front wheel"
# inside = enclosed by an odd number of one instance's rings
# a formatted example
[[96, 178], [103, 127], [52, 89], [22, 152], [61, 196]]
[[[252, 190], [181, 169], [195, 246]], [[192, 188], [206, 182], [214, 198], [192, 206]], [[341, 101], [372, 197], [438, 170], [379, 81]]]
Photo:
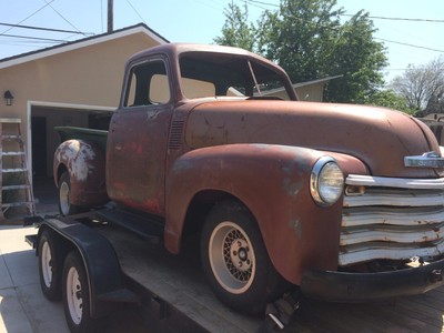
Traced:
[[165, 246], [179, 252], [193, 196], [204, 190], [236, 196], [255, 216], [270, 259], [297, 284], [304, 270], [336, 270], [342, 199], [330, 208], [310, 194], [314, 163], [326, 153], [273, 144], [230, 144], [179, 158], [167, 183]]

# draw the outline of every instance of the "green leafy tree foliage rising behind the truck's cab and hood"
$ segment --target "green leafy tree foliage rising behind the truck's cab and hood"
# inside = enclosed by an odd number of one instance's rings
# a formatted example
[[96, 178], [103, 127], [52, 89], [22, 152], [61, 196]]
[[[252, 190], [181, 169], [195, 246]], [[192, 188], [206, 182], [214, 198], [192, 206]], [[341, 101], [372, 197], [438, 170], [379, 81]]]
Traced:
[[246, 6], [242, 11], [231, 3], [214, 41], [246, 46], [283, 67], [294, 83], [342, 74], [326, 85], [324, 100], [363, 103], [384, 84], [385, 49], [374, 40], [367, 13], [341, 23], [345, 11], [335, 7], [336, 0], [281, 0], [278, 11], [248, 26]]

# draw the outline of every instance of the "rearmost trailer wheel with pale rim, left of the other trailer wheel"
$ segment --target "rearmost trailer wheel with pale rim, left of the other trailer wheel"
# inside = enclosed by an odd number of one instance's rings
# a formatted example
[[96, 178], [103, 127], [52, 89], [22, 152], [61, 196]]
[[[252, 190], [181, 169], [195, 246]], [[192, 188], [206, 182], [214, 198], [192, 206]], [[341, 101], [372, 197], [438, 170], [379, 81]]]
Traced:
[[50, 301], [62, 297], [61, 279], [63, 252], [54, 235], [44, 230], [39, 242], [39, 275], [43, 295]]

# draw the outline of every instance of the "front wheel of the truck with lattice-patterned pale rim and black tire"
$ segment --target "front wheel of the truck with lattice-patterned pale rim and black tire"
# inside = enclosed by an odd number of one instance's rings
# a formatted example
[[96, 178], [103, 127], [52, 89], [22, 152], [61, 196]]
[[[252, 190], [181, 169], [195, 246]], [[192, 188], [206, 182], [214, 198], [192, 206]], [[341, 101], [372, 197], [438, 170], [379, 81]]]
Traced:
[[221, 202], [210, 211], [202, 230], [201, 258], [216, 296], [243, 313], [263, 313], [284, 284], [254, 216], [235, 201]]

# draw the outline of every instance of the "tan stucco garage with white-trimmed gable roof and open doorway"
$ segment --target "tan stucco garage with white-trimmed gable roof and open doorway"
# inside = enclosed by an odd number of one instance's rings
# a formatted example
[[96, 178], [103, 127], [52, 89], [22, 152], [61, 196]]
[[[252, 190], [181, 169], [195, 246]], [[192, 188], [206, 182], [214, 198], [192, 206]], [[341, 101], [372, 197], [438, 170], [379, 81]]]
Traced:
[[0, 60], [0, 94], [13, 98], [0, 104], [0, 117], [21, 119], [33, 174], [52, 174], [53, 127], [103, 128], [119, 103], [128, 58], [168, 42], [137, 24]]

